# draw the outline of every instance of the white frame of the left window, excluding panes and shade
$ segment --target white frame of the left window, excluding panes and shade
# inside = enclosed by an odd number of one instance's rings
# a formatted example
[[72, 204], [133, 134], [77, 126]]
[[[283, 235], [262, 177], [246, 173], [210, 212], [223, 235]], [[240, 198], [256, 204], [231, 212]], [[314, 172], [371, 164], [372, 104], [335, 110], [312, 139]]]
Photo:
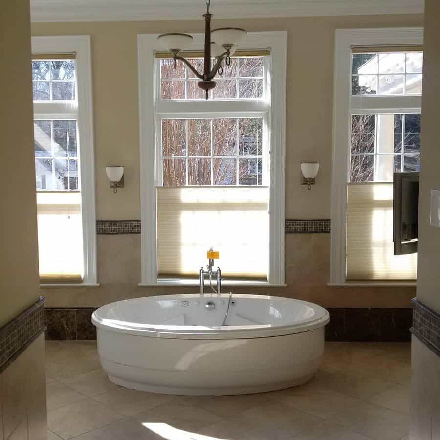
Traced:
[[[76, 119], [79, 134], [79, 157], [81, 178], [81, 211], [83, 222], [84, 276], [82, 283], [42, 283], [42, 287], [94, 287], [97, 283], [96, 270], [96, 209], [93, 144], [93, 107], [91, 79], [90, 36], [32, 37], [32, 53], [75, 52], [75, 101], [69, 101], [70, 114], [61, 108], [66, 104], [57, 101], [38, 102], [36, 119]], [[61, 107], [62, 106], [62, 107]]]

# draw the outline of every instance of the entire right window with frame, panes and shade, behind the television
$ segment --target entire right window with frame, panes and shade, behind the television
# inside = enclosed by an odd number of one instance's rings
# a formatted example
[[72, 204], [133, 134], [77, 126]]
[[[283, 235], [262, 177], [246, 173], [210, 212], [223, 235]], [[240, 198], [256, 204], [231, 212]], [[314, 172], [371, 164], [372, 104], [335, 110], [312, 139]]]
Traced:
[[392, 182], [420, 169], [421, 43], [421, 29], [336, 32], [330, 284], [416, 279], [417, 254], [393, 252]]

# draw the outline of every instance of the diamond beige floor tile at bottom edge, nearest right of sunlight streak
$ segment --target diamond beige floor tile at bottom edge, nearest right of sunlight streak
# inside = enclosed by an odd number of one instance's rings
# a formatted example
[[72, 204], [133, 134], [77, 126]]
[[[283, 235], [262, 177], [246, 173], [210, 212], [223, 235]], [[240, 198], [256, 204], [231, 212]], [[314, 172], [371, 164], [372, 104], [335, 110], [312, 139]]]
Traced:
[[280, 402], [269, 402], [231, 416], [230, 421], [262, 439], [283, 440], [322, 422], [322, 418], [306, 414]]

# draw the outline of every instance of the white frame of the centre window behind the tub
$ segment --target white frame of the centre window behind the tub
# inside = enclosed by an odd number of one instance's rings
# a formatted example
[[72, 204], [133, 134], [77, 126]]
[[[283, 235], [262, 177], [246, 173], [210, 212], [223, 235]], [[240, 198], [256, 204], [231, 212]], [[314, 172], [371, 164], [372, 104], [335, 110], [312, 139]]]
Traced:
[[[156, 228], [156, 181], [161, 166], [156, 167], [155, 145], [159, 131], [155, 115], [173, 117], [173, 109], [181, 106], [191, 117], [204, 116], [200, 112], [200, 101], [173, 103], [159, 101], [156, 88], [158, 74], [154, 63], [154, 52], [163, 48], [157, 34], [140, 34], [138, 42], [139, 73], [139, 128], [140, 128], [140, 184], [141, 184], [141, 240], [142, 281], [139, 286], [196, 286], [198, 282], [188, 280], [160, 281], [157, 279], [157, 228]], [[203, 49], [203, 34], [195, 34], [194, 50]], [[234, 107], [249, 116], [267, 116], [267, 136], [270, 139], [270, 200], [269, 200], [269, 273], [267, 282], [227, 282], [234, 286], [286, 286], [284, 280], [284, 211], [285, 211], [285, 149], [286, 149], [286, 61], [287, 33], [250, 32], [240, 43], [240, 49], [270, 49], [270, 60], [266, 75], [266, 96], [270, 99], [270, 111], [266, 100], [237, 100]], [[275, 68], [274, 68], [275, 67]], [[204, 110], [212, 117], [235, 117], [227, 100], [203, 103]], [[268, 112], [268, 113], [267, 113]], [[176, 116], [176, 115], [175, 115]], [[157, 145], [160, 145], [157, 144]], [[268, 161], [267, 161], [268, 162]], [[158, 169], [160, 168], [160, 170]], [[244, 257], [243, 257], [244, 258]], [[200, 262], [194, 262], [195, 267]]]

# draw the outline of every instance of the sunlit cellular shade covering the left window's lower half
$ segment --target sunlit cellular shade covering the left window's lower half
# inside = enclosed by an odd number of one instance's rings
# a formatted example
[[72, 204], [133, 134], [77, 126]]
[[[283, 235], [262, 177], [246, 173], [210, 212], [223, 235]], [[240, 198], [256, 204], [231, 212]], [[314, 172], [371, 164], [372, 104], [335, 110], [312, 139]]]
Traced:
[[81, 194], [38, 192], [37, 223], [40, 282], [83, 281]]

